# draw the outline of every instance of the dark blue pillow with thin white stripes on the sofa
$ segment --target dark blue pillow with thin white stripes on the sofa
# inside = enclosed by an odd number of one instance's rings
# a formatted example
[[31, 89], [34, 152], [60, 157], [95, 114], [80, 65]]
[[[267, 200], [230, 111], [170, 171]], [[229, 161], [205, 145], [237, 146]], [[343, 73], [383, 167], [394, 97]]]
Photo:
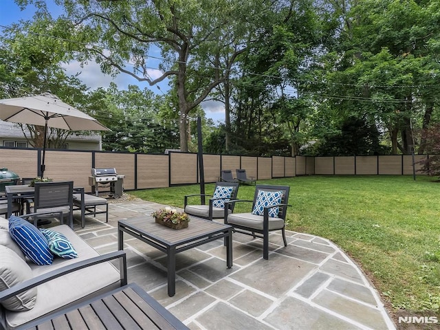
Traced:
[[54, 255], [42, 232], [32, 223], [12, 215], [9, 218], [9, 233], [19, 245], [25, 256], [37, 265], [50, 265]]

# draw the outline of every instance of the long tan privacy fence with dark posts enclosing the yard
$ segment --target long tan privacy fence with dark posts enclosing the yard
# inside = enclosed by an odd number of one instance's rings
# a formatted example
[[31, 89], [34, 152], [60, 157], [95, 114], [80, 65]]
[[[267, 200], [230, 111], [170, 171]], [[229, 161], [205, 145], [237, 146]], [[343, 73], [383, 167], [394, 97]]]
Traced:
[[[38, 177], [41, 148], [0, 147], [0, 168], [6, 167], [20, 177]], [[107, 151], [47, 150], [45, 177], [73, 180], [87, 192], [91, 168], [116, 168], [125, 175], [124, 189], [163, 188], [199, 183], [197, 153], [170, 152], [168, 155], [116, 153]], [[415, 156], [415, 161], [423, 159]], [[420, 168], [416, 164], [416, 170]], [[296, 175], [411, 175], [410, 155], [353, 157], [250, 157], [203, 155], [205, 182], [219, 179], [221, 170], [244, 168], [259, 180]]]

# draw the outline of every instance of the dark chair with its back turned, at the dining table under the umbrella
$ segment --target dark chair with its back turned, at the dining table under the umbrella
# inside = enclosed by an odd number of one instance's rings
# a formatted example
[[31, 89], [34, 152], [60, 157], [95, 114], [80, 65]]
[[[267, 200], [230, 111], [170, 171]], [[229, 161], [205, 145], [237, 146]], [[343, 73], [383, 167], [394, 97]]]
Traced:
[[[35, 199], [32, 212], [37, 215], [33, 217], [34, 225], [39, 219], [47, 219], [48, 212], [58, 214], [63, 212], [63, 218], [68, 217], [70, 228], [74, 228], [74, 181], [61, 182], [36, 182]], [[46, 213], [39, 215], [39, 213]]]

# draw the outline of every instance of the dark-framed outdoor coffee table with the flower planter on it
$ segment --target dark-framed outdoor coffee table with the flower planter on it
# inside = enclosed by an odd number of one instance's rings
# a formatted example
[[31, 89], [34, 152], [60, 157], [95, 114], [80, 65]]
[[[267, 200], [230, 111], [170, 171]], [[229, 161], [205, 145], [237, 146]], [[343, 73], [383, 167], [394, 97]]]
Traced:
[[226, 265], [232, 267], [232, 226], [190, 217], [188, 228], [171, 229], [155, 223], [153, 217], [138, 217], [118, 221], [118, 249], [124, 249], [124, 232], [166, 253], [168, 296], [175, 295], [176, 254], [196, 246], [228, 237]]

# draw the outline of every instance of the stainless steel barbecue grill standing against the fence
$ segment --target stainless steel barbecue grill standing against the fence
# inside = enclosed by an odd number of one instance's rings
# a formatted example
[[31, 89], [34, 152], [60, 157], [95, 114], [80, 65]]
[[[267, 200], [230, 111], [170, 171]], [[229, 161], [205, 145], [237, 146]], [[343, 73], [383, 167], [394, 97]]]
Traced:
[[124, 177], [118, 175], [116, 168], [92, 168], [89, 177], [91, 192], [96, 196], [110, 195], [119, 198], [124, 192]]

